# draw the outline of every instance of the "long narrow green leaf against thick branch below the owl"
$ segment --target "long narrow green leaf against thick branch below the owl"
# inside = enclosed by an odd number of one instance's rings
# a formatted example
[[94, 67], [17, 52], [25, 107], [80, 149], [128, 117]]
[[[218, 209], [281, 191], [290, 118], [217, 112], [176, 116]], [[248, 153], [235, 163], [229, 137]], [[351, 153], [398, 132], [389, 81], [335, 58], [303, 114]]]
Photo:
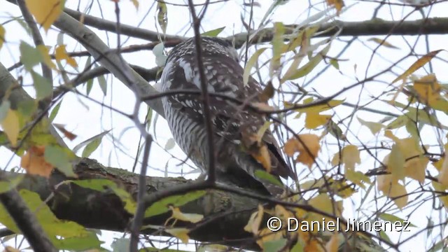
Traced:
[[151, 205], [151, 207], [148, 207], [148, 209], [146, 209], [145, 211], [145, 218], [166, 213], [167, 211], [169, 211], [169, 206], [182, 207], [184, 204], [187, 204], [188, 202], [191, 202], [193, 200], [197, 200], [205, 194], [206, 191], [197, 190], [186, 193], [185, 195], [173, 195], [170, 197], [166, 197], [163, 200], [155, 202]]

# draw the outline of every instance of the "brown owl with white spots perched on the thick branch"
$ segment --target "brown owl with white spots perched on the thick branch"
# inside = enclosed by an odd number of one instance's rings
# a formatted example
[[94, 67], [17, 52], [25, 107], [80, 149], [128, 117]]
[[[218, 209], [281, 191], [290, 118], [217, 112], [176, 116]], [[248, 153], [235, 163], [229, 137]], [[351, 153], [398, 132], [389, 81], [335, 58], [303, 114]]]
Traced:
[[[235, 102], [235, 99], [243, 104], [260, 102], [261, 86], [253, 78], [244, 85], [244, 69], [239, 65], [237, 50], [228, 41], [203, 36], [201, 44], [205, 82], [211, 93], [209, 110], [217, 182], [262, 195], [281, 194], [284, 188], [279, 186], [280, 176], [294, 178], [293, 170], [283, 160], [272, 132], [269, 129], [260, 132], [265, 116]], [[201, 95], [175, 93], [176, 90], [201, 90], [196, 54], [194, 38], [179, 43], [169, 52], [160, 81], [162, 92], [170, 94], [162, 97], [162, 104], [174, 140], [202, 173], [207, 174], [209, 146]], [[260, 172], [269, 172], [272, 176], [266, 179]], [[279, 183], [272, 183], [272, 178]]]

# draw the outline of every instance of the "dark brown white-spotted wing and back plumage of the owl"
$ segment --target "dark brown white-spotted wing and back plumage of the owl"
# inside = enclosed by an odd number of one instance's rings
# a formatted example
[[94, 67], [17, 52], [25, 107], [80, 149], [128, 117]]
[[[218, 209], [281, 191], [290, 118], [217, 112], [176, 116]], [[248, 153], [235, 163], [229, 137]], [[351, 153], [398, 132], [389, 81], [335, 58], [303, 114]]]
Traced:
[[[176, 67], [180, 69], [174, 71], [176, 81], [172, 83], [171, 90], [200, 90], [199, 68], [194, 55], [183, 57], [177, 63]], [[258, 101], [258, 94], [261, 92], [260, 85], [250, 78], [248, 85], [245, 86], [243, 83], [244, 69], [234, 59], [223, 55], [206, 56], [203, 58], [203, 64], [209, 92], [225, 94], [243, 102]], [[198, 123], [203, 123], [200, 97], [197, 95], [175, 95], [171, 99], [179, 105], [178, 109], [190, 113]], [[235, 145], [244, 145], [246, 142], [244, 140], [255, 136], [265, 124], [264, 116], [242, 109], [241, 105], [228, 99], [211, 96], [209, 102], [214, 133]], [[293, 170], [283, 159], [276, 139], [269, 129], [262, 136], [260, 146], [265, 146], [269, 153], [271, 174], [283, 178], [295, 177]], [[262, 168], [262, 166], [260, 167]]]

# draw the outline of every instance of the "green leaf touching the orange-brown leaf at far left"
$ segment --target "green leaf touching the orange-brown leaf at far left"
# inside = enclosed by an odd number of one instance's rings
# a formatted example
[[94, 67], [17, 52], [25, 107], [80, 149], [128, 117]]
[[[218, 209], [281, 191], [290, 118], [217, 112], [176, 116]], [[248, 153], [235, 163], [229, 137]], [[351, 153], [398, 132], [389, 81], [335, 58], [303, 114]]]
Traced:
[[75, 177], [76, 174], [73, 173], [73, 165], [71, 165], [73, 158], [70, 157], [69, 151], [66, 148], [50, 145], [45, 147], [43, 157], [45, 161], [49, 162], [66, 176]]

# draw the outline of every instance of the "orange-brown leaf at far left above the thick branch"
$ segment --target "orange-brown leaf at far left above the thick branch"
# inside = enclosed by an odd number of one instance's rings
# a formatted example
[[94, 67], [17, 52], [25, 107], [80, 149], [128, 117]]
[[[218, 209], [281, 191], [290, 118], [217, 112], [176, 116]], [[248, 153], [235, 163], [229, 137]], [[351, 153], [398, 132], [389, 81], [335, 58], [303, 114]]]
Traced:
[[32, 146], [25, 155], [22, 155], [20, 166], [27, 171], [28, 174], [36, 174], [40, 176], [50, 177], [53, 166], [45, 161], [45, 146]]

